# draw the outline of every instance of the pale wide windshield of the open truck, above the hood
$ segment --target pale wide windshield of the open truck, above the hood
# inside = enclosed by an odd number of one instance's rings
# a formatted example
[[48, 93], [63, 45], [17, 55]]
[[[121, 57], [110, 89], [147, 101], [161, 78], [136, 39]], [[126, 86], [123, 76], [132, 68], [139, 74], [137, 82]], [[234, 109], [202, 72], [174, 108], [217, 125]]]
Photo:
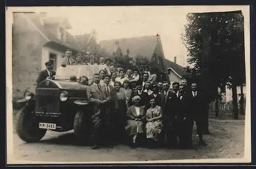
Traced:
[[76, 76], [79, 79], [81, 76], [87, 76], [88, 79], [93, 79], [93, 75], [99, 73], [99, 70], [104, 69], [104, 65], [67, 65], [66, 67], [58, 67], [55, 79], [70, 79], [71, 76]]

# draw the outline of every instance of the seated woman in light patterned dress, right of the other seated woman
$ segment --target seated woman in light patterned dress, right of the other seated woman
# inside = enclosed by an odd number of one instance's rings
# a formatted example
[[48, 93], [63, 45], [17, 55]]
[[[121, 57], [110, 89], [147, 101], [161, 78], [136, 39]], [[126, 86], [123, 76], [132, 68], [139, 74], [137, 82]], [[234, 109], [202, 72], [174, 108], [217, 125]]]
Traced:
[[154, 96], [150, 98], [150, 105], [151, 107], [146, 111], [146, 138], [149, 141], [150, 148], [153, 148], [163, 128], [162, 108], [156, 105]]

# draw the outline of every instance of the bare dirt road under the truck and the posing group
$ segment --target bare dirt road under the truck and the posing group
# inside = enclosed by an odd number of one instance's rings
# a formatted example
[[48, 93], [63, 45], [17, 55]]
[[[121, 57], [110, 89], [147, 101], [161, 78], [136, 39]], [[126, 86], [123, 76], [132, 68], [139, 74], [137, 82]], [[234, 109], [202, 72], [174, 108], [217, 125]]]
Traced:
[[[194, 127], [196, 128], [196, 127]], [[210, 135], [204, 135], [207, 147], [196, 146], [196, 150], [168, 150], [166, 148], [131, 149], [119, 145], [114, 148], [92, 150], [91, 147], [75, 146], [73, 131], [57, 133], [48, 131], [36, 143], [25, 143], [13, 135], [15, 159], [31, 161], [85, 162], [85, 161], [137, 161], [207, 158], [243, 158], [244, 120], [209, 119]], [[193, 135], [194, 144], [198, 139]]]

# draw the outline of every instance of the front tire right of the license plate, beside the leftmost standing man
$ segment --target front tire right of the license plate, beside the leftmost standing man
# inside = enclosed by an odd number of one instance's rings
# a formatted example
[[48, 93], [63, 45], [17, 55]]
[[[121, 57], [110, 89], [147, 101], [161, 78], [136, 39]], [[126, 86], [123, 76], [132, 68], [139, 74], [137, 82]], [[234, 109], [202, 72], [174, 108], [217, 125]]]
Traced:
[[86, 123], [86, 114], [78, 110], [74, 118], [74, 136], [78, 144], [89, 142], [88, 124]]

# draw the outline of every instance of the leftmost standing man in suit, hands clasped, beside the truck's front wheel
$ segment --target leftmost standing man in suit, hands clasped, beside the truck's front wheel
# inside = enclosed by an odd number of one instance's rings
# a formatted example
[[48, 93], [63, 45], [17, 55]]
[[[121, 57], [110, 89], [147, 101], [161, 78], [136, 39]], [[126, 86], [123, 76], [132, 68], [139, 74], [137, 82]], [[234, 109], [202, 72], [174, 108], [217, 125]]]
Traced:
[[94, 82], [91, 86], [88, 87], [87, 96], [90, 104], [93, 105], [92, 112], [92, 122], [93, 122], [93, 131], [92, 131], [92, 142], [94, 144], [92, 149], [98, 149], [100, 141], [100, 133], [102, 131], [102, 123], [104, 118], [104, 106], [108, 102], [104, 99], [103, 92], [99, 85], [100, 76], [99, 74], [93, 75]]

